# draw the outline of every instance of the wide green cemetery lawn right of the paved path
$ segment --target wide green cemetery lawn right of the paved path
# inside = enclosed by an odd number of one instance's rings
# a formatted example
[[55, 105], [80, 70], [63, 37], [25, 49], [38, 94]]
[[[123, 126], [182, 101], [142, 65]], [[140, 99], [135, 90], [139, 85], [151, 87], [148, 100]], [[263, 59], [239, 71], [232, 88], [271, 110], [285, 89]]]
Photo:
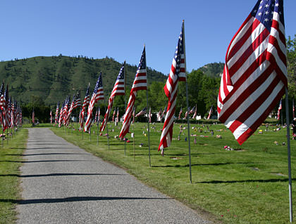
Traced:
[[[178, 141], [180, 128], [179, 124], [174, 125], [173, 142], [165, 151], [165, 156], [161, 157], [157, 148], [162, 124], [154, 126], [156, 129], [150, 135], [152, 167], [149, 167], [147, 137], [142, 133], [147, 129], [146, 124], [135, 124], [130, 128], [131, 132], [135, 129], [135, 157], [132, 139], [126, 144], [125, 155], [124, 142], [114, 138], [119, 134], [120, 127], [113, 124], [109, 124], [109, 150], [106, 137], [100, 136], [97, 146], [97, 133], [92, 133], [91, 140], [85, 133], [82, 140], [82, 134], [78, 131], [66, 128], [52, 130], [69, 142], [127, 169], [144, 183], [178, 199], [211, 220], [235, 224], [289, 222], [287, 146], [282, 145], [287, 142], [286, 129], [275, 132], [273, 129], [276, 127], [271, 126], [269, 131], [264, 131], [265, 126], [262, 126], [263, 134], [257, 131], [243, 145], [239, 145], [223, 125], [209, 125], [209, 129], [214, 130], [214, 136], [211, 136], [206, 126], [192, 124], [202, 128], [203, 132], [190, 129], [190, 133], [197, 135], [196, 145], [193, 143], [195, 137], [190, 138], [190, 184], [188, 144], [185, 142], [187, 130], [183, 131]], [[92, 130], [97, 131], [97, 127]], [[218, 139], [216, 135], [222, 138]], [[130, 134], [127, 138], [130, 138]], [[240, 150], [226, 151], [224, 145]], [[295, 164], [295, 145], [296, 141], [292, 140], [292, 164]], [[295, 172], [296, 168], [292, 165], [292, 175]], [[292, 189], [295, 195], [295, 187]]]

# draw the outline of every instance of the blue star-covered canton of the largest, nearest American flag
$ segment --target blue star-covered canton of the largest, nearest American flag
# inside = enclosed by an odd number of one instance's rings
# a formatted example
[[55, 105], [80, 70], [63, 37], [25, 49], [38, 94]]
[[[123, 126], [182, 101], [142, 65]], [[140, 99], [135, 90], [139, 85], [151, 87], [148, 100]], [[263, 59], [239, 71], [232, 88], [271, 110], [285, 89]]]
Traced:
[[284, 25], [283, 0], [259, 0], [251, 15], [257, 18], [271, 32], [273, 12], [280, 15], [280, 22]]

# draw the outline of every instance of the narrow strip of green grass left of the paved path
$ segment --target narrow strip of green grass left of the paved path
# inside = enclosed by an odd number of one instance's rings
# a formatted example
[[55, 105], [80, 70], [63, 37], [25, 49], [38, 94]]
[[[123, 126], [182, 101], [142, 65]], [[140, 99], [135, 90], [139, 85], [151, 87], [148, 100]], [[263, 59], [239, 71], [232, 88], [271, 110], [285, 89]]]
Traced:
[[15, 223], [16, 204], [20, 199], [19, 174], [22, 154], [27, 143], [27, 129], [20, 129], [13, 138], [0, 140], [0, 223]]

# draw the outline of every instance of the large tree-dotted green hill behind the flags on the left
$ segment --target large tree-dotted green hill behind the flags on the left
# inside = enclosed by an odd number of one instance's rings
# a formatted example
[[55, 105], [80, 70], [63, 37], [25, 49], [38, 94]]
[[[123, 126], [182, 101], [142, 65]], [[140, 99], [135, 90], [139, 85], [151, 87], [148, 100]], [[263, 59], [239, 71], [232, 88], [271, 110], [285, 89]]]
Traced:
[[[104, 93], [109, 95], [121, 63], [113, 58], [90, 59], [68, 56], [34, 57], [0, 62], [0, 80], [9, 85], [10, 95], [18, 101], [27, 103], [32, 95], [44, 100], [46, 105], [56, 105], [58, 100], [64, 100], [66, 95], [81, 90], [82, 98], [85, 96], [87, 84], [91, 91], [101, 71], [103, 77]], [[137, 66], [126, 66], [126, 84], [131, 88], [135, 79]], [[166, 76], [155, 70], [147, 70], [148, 81], [165, 81]]]

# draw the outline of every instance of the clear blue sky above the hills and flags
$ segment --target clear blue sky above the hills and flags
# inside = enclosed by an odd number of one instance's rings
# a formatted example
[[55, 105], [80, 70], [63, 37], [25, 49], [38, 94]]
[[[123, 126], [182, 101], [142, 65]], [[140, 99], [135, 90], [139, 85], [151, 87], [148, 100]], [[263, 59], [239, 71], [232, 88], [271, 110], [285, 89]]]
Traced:
[[[185, 20], [187, 70], [224, 62], [256, 0], [1, 0], [0, 60], [51, 55], [112, 57], [168, 74]], [[285, 32], [296, 34], [296, 1], [284, 0]]]

